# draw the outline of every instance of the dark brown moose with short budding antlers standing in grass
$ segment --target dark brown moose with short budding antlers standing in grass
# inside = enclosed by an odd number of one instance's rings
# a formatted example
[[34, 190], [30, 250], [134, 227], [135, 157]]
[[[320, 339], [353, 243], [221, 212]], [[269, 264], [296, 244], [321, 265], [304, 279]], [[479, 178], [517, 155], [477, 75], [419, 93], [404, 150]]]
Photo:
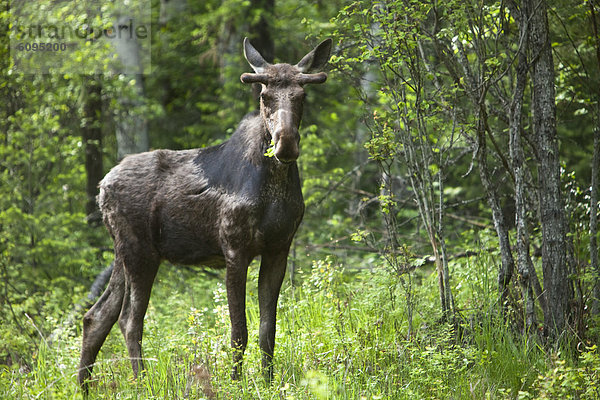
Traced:
[[246, 275], [260, 256], [258, 302], [262, 370], [273, 379], [277, 299], [287, 257], [304, 214], [296, 160], [304, 85], [323, 83], [331, 39], [296, 65], [271, 64], [244, 39], [261, 84], [260, 109], [220, 145], [155, 150], [125, 157], [100, 182], [98, 205], [114, 242], [108, 286], [83, 318], [78, 381], [87, 394], [96, 356], [114, 323], [125, 338], [134, 377], [144, 369], [142, 331], [159, 264], [225, 268], [233, 347], [232, 379], [239, 379], [248, 342]]

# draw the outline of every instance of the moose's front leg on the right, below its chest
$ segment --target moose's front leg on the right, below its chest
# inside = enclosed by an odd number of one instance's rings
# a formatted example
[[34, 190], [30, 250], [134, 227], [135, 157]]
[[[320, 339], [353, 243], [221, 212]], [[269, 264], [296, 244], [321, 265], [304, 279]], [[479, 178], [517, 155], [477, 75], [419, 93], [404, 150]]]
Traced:
[[263, 375], [267, 382], [273, 380], [273, 351], [275, 349], [275, 322], [277, 299], [285, 275], [288, 252], [262, 257], [258, 275], [258, 304], [260, 308], [259, 343]]

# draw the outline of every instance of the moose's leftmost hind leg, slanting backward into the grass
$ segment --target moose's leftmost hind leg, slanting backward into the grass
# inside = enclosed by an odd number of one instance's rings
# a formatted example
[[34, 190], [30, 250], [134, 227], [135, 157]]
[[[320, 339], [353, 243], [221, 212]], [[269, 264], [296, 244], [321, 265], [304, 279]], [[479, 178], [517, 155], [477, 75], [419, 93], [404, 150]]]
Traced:
[[83, 339], [77, 380], [84, 393], [87, 393], [86, 380], [92, 374], [96, 356], [119, 317], [124, 292], [123, 266], [118, 260], [115, 260], [106, 290], [83, 317]]

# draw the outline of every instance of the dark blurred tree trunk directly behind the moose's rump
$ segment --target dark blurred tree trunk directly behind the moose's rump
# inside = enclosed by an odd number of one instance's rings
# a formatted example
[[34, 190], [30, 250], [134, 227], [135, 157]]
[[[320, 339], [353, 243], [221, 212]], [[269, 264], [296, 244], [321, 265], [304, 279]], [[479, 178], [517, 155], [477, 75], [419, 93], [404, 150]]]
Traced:
[[102, 86], [100, 76], [93, 75], [84, 83], [84, 105], [82, 128], [83, 145], [85, 148], [86, 194], [85, 212], [90, 225], [99, 224], [100, 211], [96, 203], [98, 183], [102, 179]]

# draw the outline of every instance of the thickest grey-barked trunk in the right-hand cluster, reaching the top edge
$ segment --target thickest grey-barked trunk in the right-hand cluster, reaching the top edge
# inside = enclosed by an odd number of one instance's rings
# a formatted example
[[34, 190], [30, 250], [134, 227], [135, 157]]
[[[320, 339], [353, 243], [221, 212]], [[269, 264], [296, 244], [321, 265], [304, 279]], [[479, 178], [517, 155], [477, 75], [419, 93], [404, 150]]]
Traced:
[[529, 44], [533, 82], [533, 127], [538, 146], [542, 266], [547, 308], [544, 331], [558, 339], [572, 320], [573, 284], [569, 278], [567, 219], [561, 194], [554, 64], [545, 0], [524, 0], [530, 10]]

